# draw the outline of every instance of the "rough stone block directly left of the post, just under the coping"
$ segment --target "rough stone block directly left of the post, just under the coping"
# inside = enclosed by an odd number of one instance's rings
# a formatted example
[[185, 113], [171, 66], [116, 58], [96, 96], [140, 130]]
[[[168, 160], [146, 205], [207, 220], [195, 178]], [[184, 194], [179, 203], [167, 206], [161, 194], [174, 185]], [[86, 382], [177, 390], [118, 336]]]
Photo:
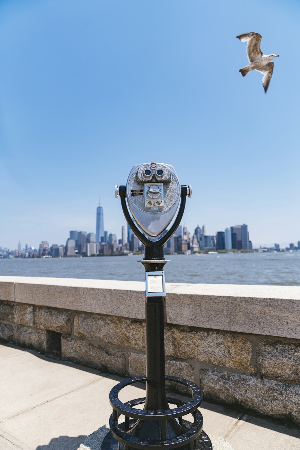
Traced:
[[110, 315], [77, 313], [74, 319], [74, 336], [98, 339], [138, 350], [146, 347], [144, 322]]

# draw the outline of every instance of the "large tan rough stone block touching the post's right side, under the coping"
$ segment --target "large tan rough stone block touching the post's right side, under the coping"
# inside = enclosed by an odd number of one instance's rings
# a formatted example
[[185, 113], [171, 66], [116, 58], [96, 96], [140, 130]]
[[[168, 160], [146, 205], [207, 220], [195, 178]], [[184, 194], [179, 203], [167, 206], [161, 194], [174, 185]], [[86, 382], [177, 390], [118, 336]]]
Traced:
[[249, 369], [252, 343], [242, 336], [166, 327], [165, 353], [232, 369]]

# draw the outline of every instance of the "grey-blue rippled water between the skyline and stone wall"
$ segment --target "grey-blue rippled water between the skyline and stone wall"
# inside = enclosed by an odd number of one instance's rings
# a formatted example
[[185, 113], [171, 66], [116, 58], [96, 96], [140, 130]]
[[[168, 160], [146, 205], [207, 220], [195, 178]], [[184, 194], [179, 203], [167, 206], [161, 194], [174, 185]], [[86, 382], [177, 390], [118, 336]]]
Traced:
[[[169, 283], [300, 286], [300, 252], [171, 255]], [[142, 256], [0, 259], [0, 275], [144, 280]]]

